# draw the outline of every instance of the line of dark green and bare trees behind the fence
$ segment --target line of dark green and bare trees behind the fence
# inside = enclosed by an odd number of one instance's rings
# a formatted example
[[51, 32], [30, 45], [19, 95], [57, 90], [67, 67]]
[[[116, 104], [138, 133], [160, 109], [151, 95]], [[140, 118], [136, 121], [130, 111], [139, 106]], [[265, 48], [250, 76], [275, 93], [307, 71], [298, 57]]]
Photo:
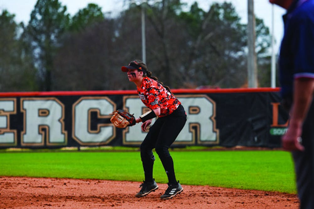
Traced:
[[[246, 24], [231, 3], [208, 10], [180, 0], [125, 1], [116, 17], [90, 3], [71, 16], [58, 0], [38, 0], [27, 25], [0, 15], [0, 91], [134, 89], [121, 66], [142, 58], [171, 88], [246, 86]], [[270, 86], [271, 36], [256, 18], [258, 84]]]

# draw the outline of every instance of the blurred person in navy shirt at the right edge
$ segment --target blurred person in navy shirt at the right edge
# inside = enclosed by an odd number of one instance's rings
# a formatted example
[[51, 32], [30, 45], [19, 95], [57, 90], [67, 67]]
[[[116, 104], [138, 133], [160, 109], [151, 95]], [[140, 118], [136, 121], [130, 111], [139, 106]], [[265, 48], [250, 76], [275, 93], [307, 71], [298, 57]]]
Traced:
[[269, 2], [287, 9], [279, 77], [290, 118], [282, 146], [292, 152], [300, 208], [314, 208], [314, 0]]

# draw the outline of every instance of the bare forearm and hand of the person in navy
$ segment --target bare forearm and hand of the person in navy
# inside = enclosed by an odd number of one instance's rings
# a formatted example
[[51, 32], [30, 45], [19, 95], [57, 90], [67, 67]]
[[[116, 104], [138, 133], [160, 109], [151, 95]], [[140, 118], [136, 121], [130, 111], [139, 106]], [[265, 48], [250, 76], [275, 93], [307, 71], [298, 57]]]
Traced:
[[313, 78], [297, 78], [293, 86], [293, 103], [287, 133], [282, 137], [282, 146], [287, 151], [304, 150], [300, 144], [302, 125], [311, 105], [314, 92]]

